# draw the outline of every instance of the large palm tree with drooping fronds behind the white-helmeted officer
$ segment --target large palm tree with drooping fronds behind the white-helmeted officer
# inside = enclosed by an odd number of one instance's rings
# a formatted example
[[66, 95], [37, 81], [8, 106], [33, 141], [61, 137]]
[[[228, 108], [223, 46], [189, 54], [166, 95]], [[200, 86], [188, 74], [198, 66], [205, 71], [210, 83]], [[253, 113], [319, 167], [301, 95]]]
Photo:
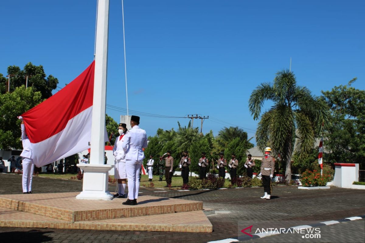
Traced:
[[249, 109], [253, 118], [260, 117], [264, 101], [273, 105], [261, 115], [256, 131], [257, 146], [264, 151], [272, 148], [273, 156], [280, 154], [285, 164], [285, 177], [291, 180], [291, 157], [296, 138], [296, 152], [301, 158], [310, 153], [322, 125], [330, 119], [328, 106], [319, 97], [311, 95], [307, 87], [297, 86], [293, 72], [282, 70], [273, 84], [261, 83], [252, 91]]

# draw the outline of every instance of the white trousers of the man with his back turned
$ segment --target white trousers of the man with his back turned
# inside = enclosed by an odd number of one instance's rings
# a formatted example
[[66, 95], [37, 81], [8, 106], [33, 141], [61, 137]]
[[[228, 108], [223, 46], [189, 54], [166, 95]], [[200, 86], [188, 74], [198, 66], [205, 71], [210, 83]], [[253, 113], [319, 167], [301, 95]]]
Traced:
[[142, 160], [126, 160], [129, 200], [138, 198], [139, 171], [141, 171], [141, 165]]

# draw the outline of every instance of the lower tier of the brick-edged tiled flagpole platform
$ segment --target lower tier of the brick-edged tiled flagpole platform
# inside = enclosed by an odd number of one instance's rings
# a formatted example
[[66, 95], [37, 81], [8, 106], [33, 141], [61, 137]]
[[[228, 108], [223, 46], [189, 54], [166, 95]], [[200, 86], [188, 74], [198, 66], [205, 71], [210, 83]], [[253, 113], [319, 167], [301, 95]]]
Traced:
[[170, 232], [212, 232], [213, 230], [212, 224], [203, 211], [69, 222], [3, 207], [0, 207], [0, 227]]

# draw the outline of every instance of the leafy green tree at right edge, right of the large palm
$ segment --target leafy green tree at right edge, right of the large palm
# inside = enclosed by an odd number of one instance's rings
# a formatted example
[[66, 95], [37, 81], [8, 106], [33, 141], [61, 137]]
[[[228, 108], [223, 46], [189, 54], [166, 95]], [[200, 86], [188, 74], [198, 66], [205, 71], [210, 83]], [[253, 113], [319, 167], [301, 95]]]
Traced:
[[322, 91], [332, 115], [331, 126], [324, 135], [324, 159], [365, 166], [365, 90], [351, 87], [356, 79], [331, 91]]

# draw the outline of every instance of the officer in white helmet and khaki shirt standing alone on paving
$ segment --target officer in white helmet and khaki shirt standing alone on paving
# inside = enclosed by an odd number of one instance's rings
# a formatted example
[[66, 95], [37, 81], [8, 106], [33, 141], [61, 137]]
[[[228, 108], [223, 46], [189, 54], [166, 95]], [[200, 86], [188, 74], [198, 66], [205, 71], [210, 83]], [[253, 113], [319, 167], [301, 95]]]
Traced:
[[271, 179], [274, 177], [275, 159], [270, 155], [271, 148], [265, 148], [265, 156], [262, 157], [261, 171], [258, 176], [262, 175], [262, 185], [264, 185], [265, 195], [262, 199], [270, 199], [271, 194]]

